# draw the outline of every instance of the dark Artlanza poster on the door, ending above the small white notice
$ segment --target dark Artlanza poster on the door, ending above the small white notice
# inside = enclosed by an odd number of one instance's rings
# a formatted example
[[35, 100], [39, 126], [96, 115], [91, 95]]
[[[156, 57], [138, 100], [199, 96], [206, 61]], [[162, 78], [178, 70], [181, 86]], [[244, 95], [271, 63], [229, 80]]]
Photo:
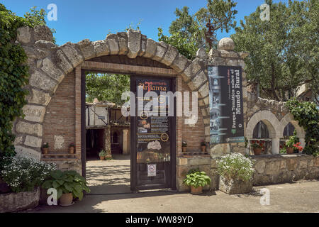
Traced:
[[[170, 122], [168, 116], [168, 97], [161, 92], [169, 92], [168, 79], [137, 79], [137, 162], [167, 162], [170, 160]], [[147, 92], [154, 92], [153, 96], [145, 96]], [[157, 99], [157, 105], [151, 101]], [[149, 105], [150, 109], [145, 108]], [[162, 113], [161, 113], [162, 112]], [[155, 114], [157, 113], [157, 114]]]

